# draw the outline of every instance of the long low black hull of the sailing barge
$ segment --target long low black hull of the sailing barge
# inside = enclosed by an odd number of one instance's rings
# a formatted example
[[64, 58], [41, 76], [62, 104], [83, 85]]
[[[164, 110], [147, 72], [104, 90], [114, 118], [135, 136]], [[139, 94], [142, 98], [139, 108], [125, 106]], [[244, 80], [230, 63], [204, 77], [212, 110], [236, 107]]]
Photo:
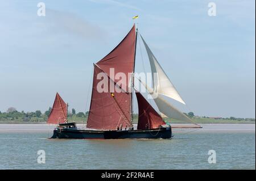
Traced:
[[168, 139], [172, 137], [172, 129], [148, 129], [129, 131], [92, 131], [82, 129], [59, 129], [53, 131], [51, 138], [64, 139]]

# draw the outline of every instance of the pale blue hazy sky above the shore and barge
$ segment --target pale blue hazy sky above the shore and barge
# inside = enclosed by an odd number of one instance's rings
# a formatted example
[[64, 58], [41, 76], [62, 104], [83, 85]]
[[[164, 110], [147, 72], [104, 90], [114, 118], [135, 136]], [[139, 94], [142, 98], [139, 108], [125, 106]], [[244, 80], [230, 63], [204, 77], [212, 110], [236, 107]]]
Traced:
[[[38, 16], [39, 2], [46, 16]], [[200, 116], [255, 118], [254, 0], [0, 0], [0, 111], [44, 112], [56, 91], [77, 112], [89, 110], [93, 62], [123, 39], [135, 15], [187, 106], [171, 103]], [[150, 72], [137, 42], [135, 71]]]

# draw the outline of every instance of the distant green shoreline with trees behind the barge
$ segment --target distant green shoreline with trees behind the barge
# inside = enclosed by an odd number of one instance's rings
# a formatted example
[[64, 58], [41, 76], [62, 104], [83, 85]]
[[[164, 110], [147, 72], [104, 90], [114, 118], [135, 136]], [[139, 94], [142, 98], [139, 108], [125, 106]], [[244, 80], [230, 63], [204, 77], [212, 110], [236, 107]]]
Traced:
[[[15, 108], [9, 108], [13, 111], [0, 111], [0, 124], [45, 124], [48, 120], [49, 113], [51, 112], [51, 107], [48, 111], [42, 113], [41, 111], [35, 112], [19, 112]], [[67, 120], [69, 122], [75, 122], [77, 124], [86, 123], [88, 120], [89, 111], [76, 113], [72, 110], [72, 113], [68, 114]], [[191, 120], [187, 122], [170, 119], [168, 117], [163, 117], [166, 123], [170, 124], [186, 124], [186, 123], [197, 123], [197, 124], [255, 124], [255, 118], [245, 118], [245, 117], [208, 117], [208, 116], [196, 116], [193, 112], [184, 113]], [[133, 114], [133, 123], [138, 123], [138, 114]]]

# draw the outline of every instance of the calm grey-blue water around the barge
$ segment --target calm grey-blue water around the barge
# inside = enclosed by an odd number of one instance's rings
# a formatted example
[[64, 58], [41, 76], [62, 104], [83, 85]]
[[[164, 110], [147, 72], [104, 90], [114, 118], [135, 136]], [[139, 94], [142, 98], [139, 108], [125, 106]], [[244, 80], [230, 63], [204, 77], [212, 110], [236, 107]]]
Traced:
[[204, 127], [171, 140], [49, 140], [46, 125], [0, 124], [0, 169], [255, 169], [255, 124]]

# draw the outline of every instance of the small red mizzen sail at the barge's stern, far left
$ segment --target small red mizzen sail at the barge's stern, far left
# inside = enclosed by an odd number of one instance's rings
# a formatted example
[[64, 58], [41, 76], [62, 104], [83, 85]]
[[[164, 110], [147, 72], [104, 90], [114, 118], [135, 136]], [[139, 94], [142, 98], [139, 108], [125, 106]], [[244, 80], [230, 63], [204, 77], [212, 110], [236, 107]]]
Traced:
[[58, 124], [65, 123], [67, 120], [67, 104], [61, 99], [60, 95], [56, 94], [55, 101], [52, 106], [52, 111], [48, 117], [47, 123]]

